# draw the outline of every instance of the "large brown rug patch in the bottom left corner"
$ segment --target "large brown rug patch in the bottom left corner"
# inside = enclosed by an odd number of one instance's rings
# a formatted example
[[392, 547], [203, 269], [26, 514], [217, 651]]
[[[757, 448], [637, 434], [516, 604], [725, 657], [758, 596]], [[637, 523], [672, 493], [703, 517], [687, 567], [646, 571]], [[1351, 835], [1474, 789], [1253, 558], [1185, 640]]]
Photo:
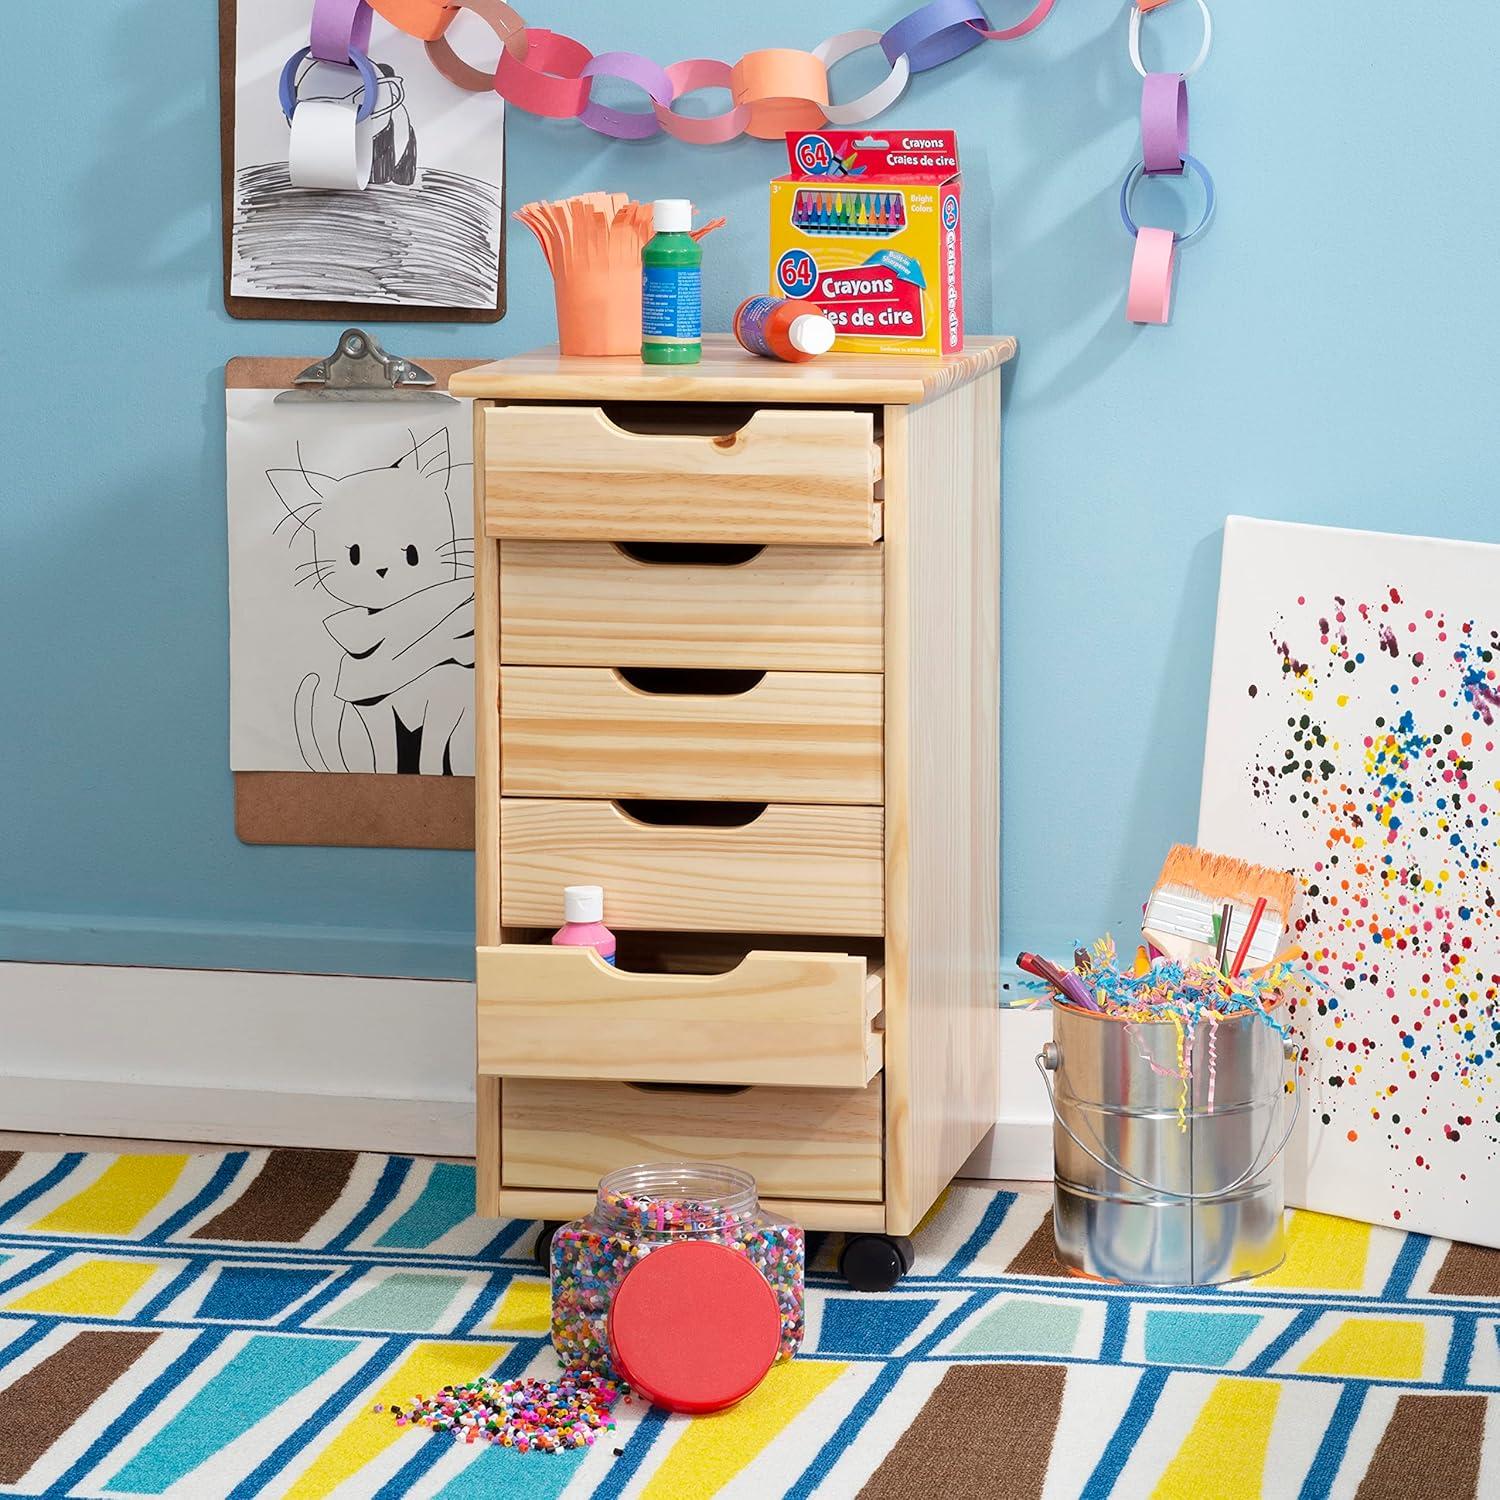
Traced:
[[0, 1485], [18, 1485], [156, 1338], [136, 1329], [88, 1329], [0, 1390]]

